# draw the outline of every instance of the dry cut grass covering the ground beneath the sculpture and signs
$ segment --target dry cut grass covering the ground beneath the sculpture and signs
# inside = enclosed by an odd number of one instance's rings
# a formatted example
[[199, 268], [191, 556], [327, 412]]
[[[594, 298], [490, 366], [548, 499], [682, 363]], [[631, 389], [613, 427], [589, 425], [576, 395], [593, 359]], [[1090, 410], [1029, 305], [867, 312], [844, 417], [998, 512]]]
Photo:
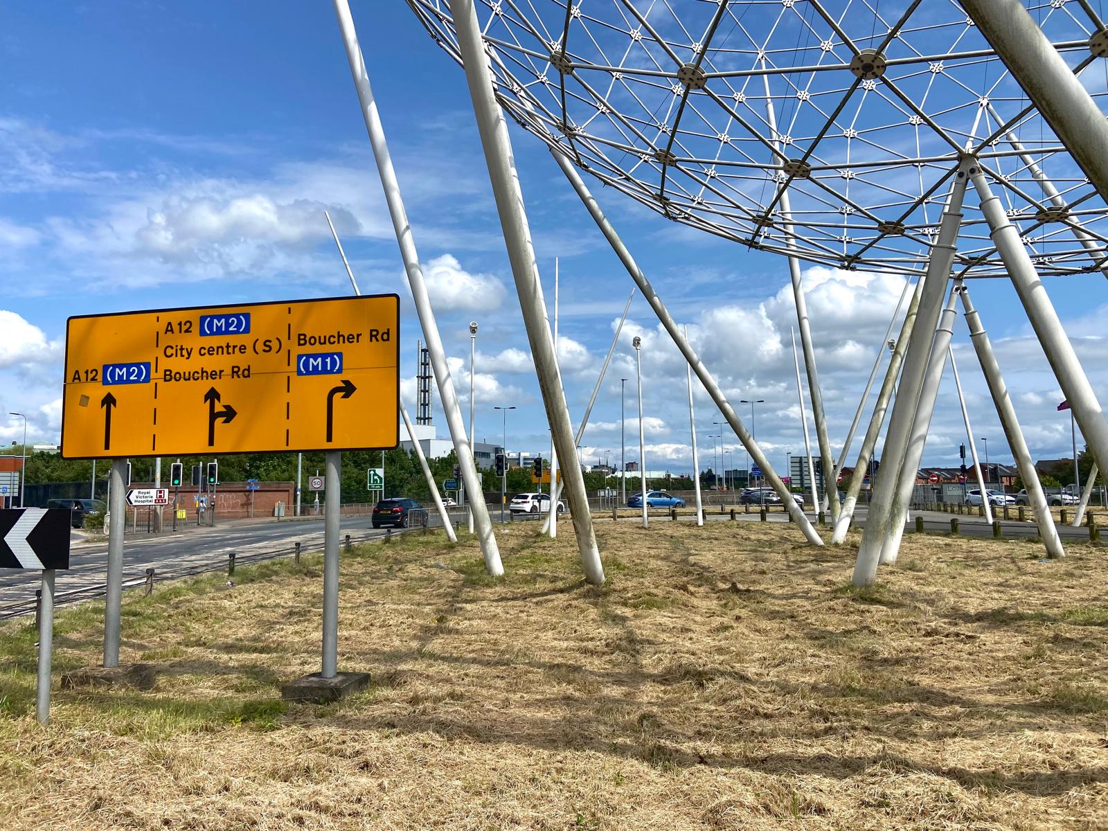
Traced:
[[[1108, 564], [906, 536], [869, 591], [794, 527], [597, 525], [367, 546], [342, 563], [345, 702], [286, 707], [318, 667], [319, 563], [125, 606], [154, 693], [55, 691], [0, 632], [0, 827], [20, 829], [1102, 829]], [[856, 544], [856, 540], [854, 541]], [[94, 661], [94, 608], [58, 663]]]

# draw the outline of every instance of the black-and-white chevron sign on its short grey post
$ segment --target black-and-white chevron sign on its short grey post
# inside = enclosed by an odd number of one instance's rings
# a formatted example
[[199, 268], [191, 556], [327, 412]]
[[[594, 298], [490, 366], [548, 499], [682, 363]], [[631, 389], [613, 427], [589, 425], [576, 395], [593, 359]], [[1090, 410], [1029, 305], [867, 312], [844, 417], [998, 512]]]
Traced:
[[21, 507], [0, 511], [0, 568], [42, 571], [39, 605], [39, 688], [35, 712], [50, 720], [50, 676], [54, 642], [54, 574], [69, 568], [70, 512]]

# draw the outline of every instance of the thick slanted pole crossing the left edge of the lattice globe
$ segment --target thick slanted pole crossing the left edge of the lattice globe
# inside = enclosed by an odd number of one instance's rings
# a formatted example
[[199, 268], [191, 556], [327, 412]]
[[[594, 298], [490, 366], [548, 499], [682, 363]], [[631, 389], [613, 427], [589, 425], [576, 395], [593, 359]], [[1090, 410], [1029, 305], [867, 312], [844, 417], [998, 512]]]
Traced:
[[458, 48], [465, 69], [465, 79], [476, 116], [481, 144], [484, 147], [489, 178], [492, 183], [496, 209], [500, 214], [504, 242], [507, 245], [512, 275], [523, 311], [527, 340], [534, 356], [538, 375], [538, 387], [546, 408], [546, 420], [554, 437], [557, 458], [566, 476], [570, 510], [577, 537], [585, 579], [594, 585], [604, 582], [604, 567], [596, 547], [593, 517], [585, 493], [585, 480], [577, 461], [577, 449], [570, 424], [570, 412], [565, 403], [565, 392], [557, 372], [557, 360], [553, 352], [550, 324], [540, 301], [540, 280], [535, 265], [535, 253], [531, 244], [531, 232], [524, 213], [523, 194], [512, 156], [511, 140], [504, 114], [496, 103], [492, 85], [489, 59], [481, 40], [476, 9], [473, 0], [453, 0], [451, 11], [458, 34]]

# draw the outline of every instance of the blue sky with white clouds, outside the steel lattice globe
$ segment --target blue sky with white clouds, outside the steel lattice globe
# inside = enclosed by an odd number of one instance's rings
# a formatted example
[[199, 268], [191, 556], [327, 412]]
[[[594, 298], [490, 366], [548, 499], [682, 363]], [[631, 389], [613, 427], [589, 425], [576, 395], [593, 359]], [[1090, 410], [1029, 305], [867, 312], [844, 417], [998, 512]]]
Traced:
[[[403, 3], [352, 6], [463, 393], [466, 324], [481, 327], [478, 438], [497, 440], [492, 407], [515, 404], [509, 448], [545, 449], [461, 70]], [[329, 3], [16, 3], [0, 10], [0, 406], [30, 416], [30, 439], [58, 439], [70, 315], [347, 294], [325, 208], [362, 290], [401, 295], [401, 356], [413, 375], [418, 322]], [[513, 141], [548, 302], [561, 258], [562, 369], [576, 422], [632, 284], [545, 148], [517, 130]], [[728, 396], [766, 399], [758, 438], [783, 468], [786, 452], [802, 448], [786, 263], [595, 192]], [[903, 284], [808, 267], [806, 278], [838, 449]], [[1104, 401], [1104, 278], [1054, 279], [1049, 289]], [[1014, 290], [988, 280], [973, 293], [1033, 453], [1068, 454], [1060, 393]], [[640, 297], [586, 433], [586, 461], [618, 454], [619, 378], [634, 379], [636, 334], [646, 343], [648, 466], [687, 472], [684, 365]], [[989, 438], [991, 460], [1010, 458], [962, 321], [955, 342], [975, 432]], [[409, 379], [406, 397], [412, 388]], [[720, 417], [699, 390], [697, 407], [708, 466]], [[441, 413], [435, 423], [445, 435]], [[634, 422], [627, 435], [627, 459], [637, 459]], [[0, 419], [0, 439], [21, 437], [20, 420]], [[961, 441], [944, 381], [925, 461], [955, 464]], [[743, 466], [735, 438], [725, 443]]]

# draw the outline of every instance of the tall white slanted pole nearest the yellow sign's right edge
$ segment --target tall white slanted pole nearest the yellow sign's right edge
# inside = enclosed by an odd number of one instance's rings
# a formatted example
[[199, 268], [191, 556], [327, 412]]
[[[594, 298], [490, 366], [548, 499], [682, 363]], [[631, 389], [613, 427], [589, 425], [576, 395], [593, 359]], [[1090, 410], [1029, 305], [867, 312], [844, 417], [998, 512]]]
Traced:
[[347, 60], [350, 63], [350, 74], [353, 78], [355, 89], [358, 92], [362, 117], [366, 121], [369, 142], [373, 148], [373, 157], [377, 161], [377, 170], [381, 177], [381, 186], [389, 207], [389, 216], [392, 219], [392, 227], [396, 232], [397, 243], [400, 246], [401, 258], [404, 263], [408, 285], [412, 293], [420, 327], [423, 330], [423, 336], [427, 338], [431, 366], [434, 370], [435, 381], [439, 384], [439, 399], [442, 403], [442, 411], [447, 418], [450, 437], [454, 442], [454, 452], [458, 454], [458, 464], [462, 469], [462, 480], [465, 482], [465, 491], [470, 494], [470, 501], [473, 506], [474, 527], [478, 538], [481, 541], [481, 552], [484, 556], [485, 571], [499, 577], [504, 573], [504, 566], [500, 560], [500, 548], [496, 545], [496, 537], [492, 533], [492, 520], [489, 516], [489, 509], [482, 496], [476, 464], [465, 437], [465, 424], [462, 422], [458, 394], [454, 392], [454, 381], [447, 365], [445, 349], [442, 345], [442, 338], [439, 335], [439, 326], [434, 319], [434, 311], [431, 308], [427, 283], [423, 279], [423, 269], [419, 261], [419, 252], [416, 249], [411, 225], [408, 222], [408, 213], [404, 209], [403, 198], [400, 194], [400, 184], [392, 167], [392, 158], [389, 155], [384, 130], [381, 126], [381, 119], [377, 112], [377, 102], [373, 100], [373, 90], [369, 83], [366, 61], [362, 58], [361, 48], [358, 45], [358, 34], [355, 31], [353, 19], [350, 16], [350, 6], [347, 0], [334, 0], [334, 4], [335, 14], [342, 33], [342, 44], [346, 48]]

